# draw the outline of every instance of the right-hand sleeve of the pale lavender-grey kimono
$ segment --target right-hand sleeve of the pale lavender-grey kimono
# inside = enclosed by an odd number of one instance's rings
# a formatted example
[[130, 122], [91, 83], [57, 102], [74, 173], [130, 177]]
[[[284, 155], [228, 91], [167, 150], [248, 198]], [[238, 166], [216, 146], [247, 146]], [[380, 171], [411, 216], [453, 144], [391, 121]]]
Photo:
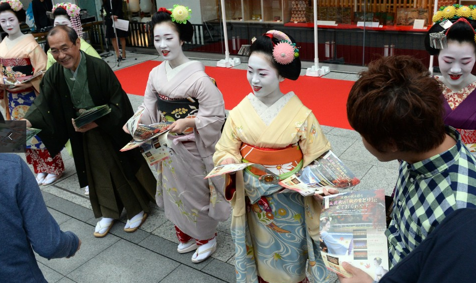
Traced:
[[208, 76], [201, 77], [192, 88], [195, 92], [193, 96], [200, 104], [195, 117], [195, 127], [205, 147], [209, 147], [220, 136], [225, 120], [225, 101], [222, 93]]

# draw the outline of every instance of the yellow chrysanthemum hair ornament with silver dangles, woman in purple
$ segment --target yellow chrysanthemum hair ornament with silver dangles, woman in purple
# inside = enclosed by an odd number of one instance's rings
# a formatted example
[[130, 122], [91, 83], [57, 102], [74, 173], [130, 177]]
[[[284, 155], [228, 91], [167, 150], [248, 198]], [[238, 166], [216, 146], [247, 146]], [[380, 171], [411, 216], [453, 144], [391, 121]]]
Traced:
[[[444, 30], [440, 32], [430, 33], [430, 47], [435, 49], [444, 49], [447, 47], [448, 30], [453, 25], [452, 22], [464, 21], [471, 26], [471, 23], [467, 20], [476, 19], [476, 6], [475, 5], [460, 5], [454, 4], [451, 6], [440, 7], [440, 9], [433, 15], [433, 22], [439, 24]], [[475, 32], [476, 42], [476, 32]]]

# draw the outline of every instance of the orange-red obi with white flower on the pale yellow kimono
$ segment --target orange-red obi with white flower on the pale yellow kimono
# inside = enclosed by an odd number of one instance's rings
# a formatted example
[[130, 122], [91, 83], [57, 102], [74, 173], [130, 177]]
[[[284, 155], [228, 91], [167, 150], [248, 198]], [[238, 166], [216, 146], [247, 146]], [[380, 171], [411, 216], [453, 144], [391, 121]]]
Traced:
[[[285, 148], [261, 148], [243, 143], [240, 148], [240, 153], [243, 160], [264, 166], [279, 166], [291, 163], [293, 167], [296, 167], [303, 159], [301, 148], [293, 145], [289, 145]], [[248, 170], [257, 176], [267, 174], [254, 167], [248, 167]]]

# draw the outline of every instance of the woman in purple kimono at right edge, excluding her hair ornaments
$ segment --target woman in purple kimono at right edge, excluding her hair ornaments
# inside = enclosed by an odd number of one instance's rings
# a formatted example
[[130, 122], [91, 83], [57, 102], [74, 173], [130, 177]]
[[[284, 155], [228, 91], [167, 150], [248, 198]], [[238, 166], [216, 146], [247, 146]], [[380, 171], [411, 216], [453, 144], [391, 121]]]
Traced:
[[[447, 46], [432, 48], [427, 36], [425, 45], [430, 55], [438, 55], [442, 76], [435, 78], [443, 83], [442, 102], [445, 124], [461, 132], [461, 138], [470, 151], [476, 154], [476, 76], [471, 74], [476, 62], [476, 21], [461, 17], [452, 20], [445, 33]], [[430, 33], [442, 31], [433, 25]]]

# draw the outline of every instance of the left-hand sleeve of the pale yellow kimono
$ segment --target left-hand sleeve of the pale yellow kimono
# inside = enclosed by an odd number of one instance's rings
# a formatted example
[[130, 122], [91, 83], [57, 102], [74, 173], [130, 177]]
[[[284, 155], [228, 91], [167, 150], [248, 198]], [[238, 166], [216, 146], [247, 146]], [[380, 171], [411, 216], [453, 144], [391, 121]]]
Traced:
[[220, 165], [227, 158], [233, 158], [236, 163], [241, 163], [240, 147], [241, 140], [238, 139], [235, 133], [233, 118], [230, 114], [230, 117], [225, 122], [222, 137], [215, 145], [215, 154], [213, 155], [215, 166]]

